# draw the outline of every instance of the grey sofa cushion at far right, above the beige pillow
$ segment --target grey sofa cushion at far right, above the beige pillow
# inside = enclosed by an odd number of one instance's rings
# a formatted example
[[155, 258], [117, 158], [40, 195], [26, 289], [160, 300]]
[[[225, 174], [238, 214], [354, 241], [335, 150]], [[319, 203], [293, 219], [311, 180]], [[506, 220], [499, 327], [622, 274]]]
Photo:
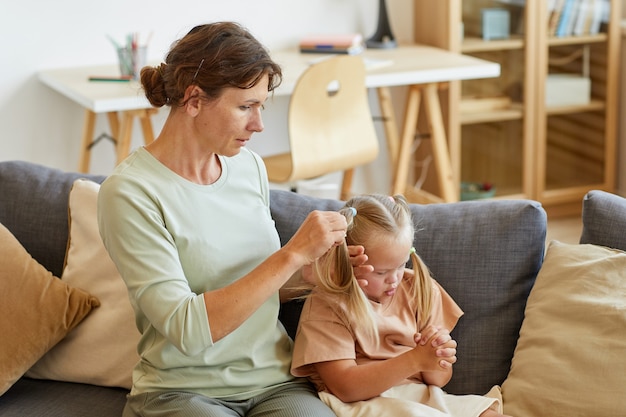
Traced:
[[626, 198], [593, 190], [583, 199], [580, 243], [626, 250]]

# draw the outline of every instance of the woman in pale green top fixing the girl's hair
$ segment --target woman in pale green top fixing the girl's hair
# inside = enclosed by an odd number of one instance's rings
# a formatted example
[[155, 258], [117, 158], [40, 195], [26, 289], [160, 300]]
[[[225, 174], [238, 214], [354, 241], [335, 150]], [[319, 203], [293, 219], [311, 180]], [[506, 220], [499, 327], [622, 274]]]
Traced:
[[265, 48], [228, 22], [195, 27], [141, 71], [150, 103], [171, 110], [98, 202], [141, 332], [126, 417], [334, 415], [290, 376], [279, 290], [343, 242], [346, 221], [313, 212], [280, 248], [265, 168], [245, 148], [280, 81]]

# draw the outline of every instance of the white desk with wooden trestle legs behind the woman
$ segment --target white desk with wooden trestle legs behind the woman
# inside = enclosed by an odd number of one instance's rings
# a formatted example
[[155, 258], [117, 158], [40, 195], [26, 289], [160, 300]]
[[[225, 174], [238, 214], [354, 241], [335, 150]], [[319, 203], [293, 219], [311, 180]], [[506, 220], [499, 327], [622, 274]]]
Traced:
[[[394, 49], [367, 49], [362, 56], [368, 62], [387, 63], [372, 67], [367, 72], [368, 88], [376, 88], [383, 115], [385, 134], [394, 169], [393, 193], [415, 195], [416, 190], [407, 187], [407, 175], [411, 159], [411, 143], [417, 128], [419, 105], [423, 101], [431, 129], [434, 163], [442, 196], [425, 195], [426, 201], [457, 201], [459, 185], [452, 173], [450, 152], [446, 139], [438, 88], [441, 83], [455, 80], [490, 78], [500, 75], [500, 65], [474, 57], [448, 52], [428, 46], [400, 46]], [[283, 67], [283, 82], [275, 95], [289, 95], [300, 74], [319, 54], [300, 54], [297, 50], [272, 52], [272, 57]], [[113, 135], [117, 135], [118, 160], [129, 151], [130, 132], [134, 117], [139, 117], [144, 127], [147, 143], [154, 139], [150, 126], [150, 104], [136, 82], [90, 82], [90, 75], [118, 75], [114, 65], [105, 67], [82, 67], [43, 71], [39, 78], [46, 85], [76, 101], [86, 109], [85, 129], [81, 145], [79, 169], [89, 167], [89, 145], [93, 140], [93, 122], [96, 113], [107, 113]], [[405, 123], [402, 135], [395, 121], [390, 87], [408, 86], [405, 107]], [[117, 124], [117, 114], [123, 115]], [[459, 154], [459, 153], [455, 153]], [[458, 166], [455, 164], [455, 166]], [[419, 190], [417, 190], [419, 191]], [[409, 193], [410, 192], [410, 193]], [[419, 199], [419, 198], [418, 198]]]

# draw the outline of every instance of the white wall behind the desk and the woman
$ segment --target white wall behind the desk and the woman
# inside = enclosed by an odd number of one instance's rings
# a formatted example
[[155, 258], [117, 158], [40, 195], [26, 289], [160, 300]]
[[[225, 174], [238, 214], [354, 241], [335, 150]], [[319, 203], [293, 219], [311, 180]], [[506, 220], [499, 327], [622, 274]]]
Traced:
[[[410, 40], [411, 1], [389, 0], [387, 7], [396, 38]], [[106, 35], [121, 40], [129, 32], [153, 32], [148, 59], [160, 60], [174, 40], [199, 23], [238, 21], [277, 50], [293, 47], [311, 33], [358, 31], [367, 37], [375, 30], [377, 14], [377, 0], [0, 0], [0, 160], [76, 170], [84, 110], [38, 81], [37, 72], [115, 64], [115, 50]], [[266, 130], [253, 137], [252, 149], [261, 154], [285, 149], [286, 105], [286, 99], [274, 99], [267, 106]], [[165, 112], [154, 118], [155, 132]], [[108, 132], [104, 115], [96, 124], [96, 135], [101, 132]], [[137, 126], [134, 138], [133, 147], [139, 146]], [[91, 172], [110, 172], [112, 146], [102, 141], [92, 154]], [[385, 158], [383, 152], [382, 165], [374, 169], [388, 170]]]

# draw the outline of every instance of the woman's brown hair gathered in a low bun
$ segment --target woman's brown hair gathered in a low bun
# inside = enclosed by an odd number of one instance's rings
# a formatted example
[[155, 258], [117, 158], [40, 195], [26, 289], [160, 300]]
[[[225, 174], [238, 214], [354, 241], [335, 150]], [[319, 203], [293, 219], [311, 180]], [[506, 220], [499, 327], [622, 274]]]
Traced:
[[153, 106], [180, 106], [192, 84], [217, 98], [227, 87], [251, 88], [264, 75], [268, 91], [282, 81], [267, 49], [241, 25], [217, 22], [196, 26], [174, 42], [164, 63], [141, 70], [141, 84]]

